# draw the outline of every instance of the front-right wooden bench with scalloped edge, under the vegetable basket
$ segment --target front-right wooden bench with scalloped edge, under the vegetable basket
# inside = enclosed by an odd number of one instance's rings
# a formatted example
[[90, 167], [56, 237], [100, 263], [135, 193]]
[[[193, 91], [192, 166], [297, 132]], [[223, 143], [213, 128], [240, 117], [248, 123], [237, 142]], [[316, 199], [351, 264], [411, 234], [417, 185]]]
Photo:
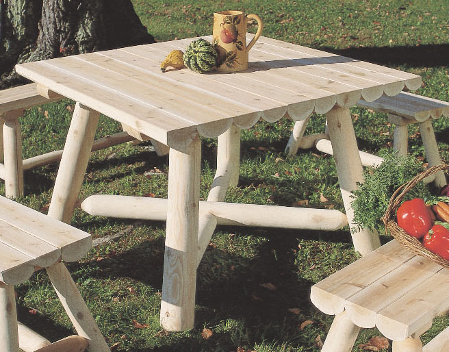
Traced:
[[377, 327], [394, 352], [449, 350], [449, 328], [424, 349], [419, 336], [449, 308], [449, 270], [396, 240], [311, 288], [311, 301], [335, 318], [322, 352], [352, 351], [361, 327]]

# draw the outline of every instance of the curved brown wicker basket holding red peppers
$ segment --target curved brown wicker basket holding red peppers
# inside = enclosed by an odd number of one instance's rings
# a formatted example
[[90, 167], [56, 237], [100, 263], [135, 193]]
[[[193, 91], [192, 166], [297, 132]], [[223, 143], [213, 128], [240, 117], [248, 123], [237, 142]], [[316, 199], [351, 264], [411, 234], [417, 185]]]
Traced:
[[446, 266], [449, 268], [449, 261], [444, 260], [439, 255], [432, 253], [426, 247], [422, 245], [422, 243], [413, 236], [408, 235], [399, 225], [396, 223], [396, 210], [399, 205], [402, 203], [402, 199], [405, 194], [411, 190], [418, 182], [422, 181], [425, 177], [432, 175], [433, 173], [437, 173], [438, 171], [449, 169], [449, 164], [441, 164], [437, 166], [432, 166], [428, 168], [426, 171], [418, 174], [413, 177], [407, 184], [403, 184], [400, 186], [396, 192], [392, 195], [392, 198], [389, 200], [387, 210], [383, 215], [383, 223], [385, 225], [386, 234], [392, 234], [394, 238], [398, 241], [402, 247], [409, 249], [413, 253], [418, 255], [422, 255], [424, 257], [428, 257], [429, 259], [437, 262], [442, 266]]

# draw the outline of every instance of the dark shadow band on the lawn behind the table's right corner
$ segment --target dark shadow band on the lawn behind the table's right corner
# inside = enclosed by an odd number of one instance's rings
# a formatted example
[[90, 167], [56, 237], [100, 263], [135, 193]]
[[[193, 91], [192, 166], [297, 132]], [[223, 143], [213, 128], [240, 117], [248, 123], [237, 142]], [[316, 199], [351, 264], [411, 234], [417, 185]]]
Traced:
[[428, 44], [417, 47], [357, 47], [341, 50], [321, 47], [320, 49], [376, 64], [433, 67], [448, 65], [449, 44]]

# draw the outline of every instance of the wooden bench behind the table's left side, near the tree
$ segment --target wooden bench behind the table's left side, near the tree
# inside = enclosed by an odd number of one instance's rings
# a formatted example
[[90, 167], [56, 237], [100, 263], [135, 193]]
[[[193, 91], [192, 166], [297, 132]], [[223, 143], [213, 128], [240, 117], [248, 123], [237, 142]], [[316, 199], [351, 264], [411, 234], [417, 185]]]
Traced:
[[[59, 162], [62, 150], [51, 151], [33, 158], [22, 160], [21, 125], [18, 118], [25, 109], [58, 101], [62, 97], [40, 88], [37, 84], [25, 84], [6, 90], [0, 90], [0, 178], [5, 180], [5, 195], [16, 198], [23, 195], [23, 171], [37, 166]], [[134, 140], [133, 130], [106, 136], [94, 141], [92, 151], [111, 147]], [[140, 140], [148, 139], [138, 136]], [[168, 153], [168, 147], [151, 140], [158, 155]], [[3, 161], [3, 163], [1, 163]]]

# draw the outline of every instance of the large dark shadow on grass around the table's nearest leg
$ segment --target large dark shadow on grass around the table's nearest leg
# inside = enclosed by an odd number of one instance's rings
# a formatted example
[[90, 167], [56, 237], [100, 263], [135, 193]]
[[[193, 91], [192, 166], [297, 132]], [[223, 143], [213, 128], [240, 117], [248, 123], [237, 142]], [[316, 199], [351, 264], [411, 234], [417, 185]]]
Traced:
[[[232, 234], [229, 242], [242, 236], [238, 228], [220, 227], [219, 230]], [[349, 243], [347, 231], [318, 235], [317, 231], [245, 228], [242, 233], [266, 239], [255, 255], [236, 255], [209, 245], [198, 266], [194, 336], [184, 338], [181, 333], [173, 333], [168, 340], [160, 340], [155, 349], [132, 349], [133, 352], [231, 351], [238, 343], [254, 344], [264, 339], [298, 346], [313, 345], [322, 326], [311, 327], [309, 334], [298, 327], [307, 319], [319, 316], [317, 321], [322, 320], [322, 314], [309, 301], [313, 281], [298, 277], [294, 249], [298, 248], [298, 238], [318, 240], [319, 236], [320, 240], [330, 243], [342, 240]], [[99, 279], [131, 278], [161, 290], [164, 238], [144, 240], [123, 253], [81, 266], [91, 264], [98, 267], [95, 275]], [[292, 308], [297, 308], [298, 314], [290, 312]], [[195, 337], [205, 325], [214, 329], [229, 319], [240, 322], [242, 331], [214, 331], [214, 336], [207, 340]], [[242, 342], [235, 342], [235, 339]]]

